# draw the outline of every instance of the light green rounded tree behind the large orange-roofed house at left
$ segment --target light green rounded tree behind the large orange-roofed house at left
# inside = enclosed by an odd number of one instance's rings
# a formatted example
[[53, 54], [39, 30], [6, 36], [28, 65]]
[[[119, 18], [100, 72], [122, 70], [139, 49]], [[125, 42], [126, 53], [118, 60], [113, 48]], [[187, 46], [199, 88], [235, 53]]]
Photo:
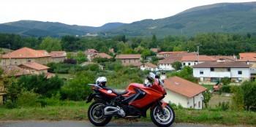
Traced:
[[42, 43], [39, 45], [40, 49], [47, 50], [48, 52], [54, 50], [61, 50], [61, 41], [59, 39], [54, 39], [50, 36], [42, 40]]

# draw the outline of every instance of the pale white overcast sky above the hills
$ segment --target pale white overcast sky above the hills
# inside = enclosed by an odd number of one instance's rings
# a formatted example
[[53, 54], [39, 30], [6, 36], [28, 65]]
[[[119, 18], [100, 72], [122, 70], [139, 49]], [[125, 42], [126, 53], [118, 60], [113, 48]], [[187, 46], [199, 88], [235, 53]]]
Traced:
[[41, 20], [102, 26], [166, 18], [206, 4], [244, 1], [248, 0], [0, 0], [0, 23]]

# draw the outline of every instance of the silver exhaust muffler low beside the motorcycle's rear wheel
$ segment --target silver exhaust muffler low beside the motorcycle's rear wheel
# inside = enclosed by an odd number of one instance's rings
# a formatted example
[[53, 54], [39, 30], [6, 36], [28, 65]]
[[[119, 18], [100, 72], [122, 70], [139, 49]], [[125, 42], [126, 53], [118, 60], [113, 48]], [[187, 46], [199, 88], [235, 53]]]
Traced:
[[105, 107], [104, 115], [121, 115], [122, 117], [124, 117], [125, 112], [120, 107]]

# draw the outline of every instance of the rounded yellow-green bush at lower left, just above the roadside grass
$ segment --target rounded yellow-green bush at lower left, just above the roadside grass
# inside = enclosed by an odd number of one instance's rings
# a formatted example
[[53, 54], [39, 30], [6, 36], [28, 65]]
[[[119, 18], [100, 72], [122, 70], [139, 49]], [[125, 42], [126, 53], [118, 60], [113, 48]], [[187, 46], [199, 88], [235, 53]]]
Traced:
[[39, 107], [39, 94], [23, 89], [18, 96], [18, 107]]

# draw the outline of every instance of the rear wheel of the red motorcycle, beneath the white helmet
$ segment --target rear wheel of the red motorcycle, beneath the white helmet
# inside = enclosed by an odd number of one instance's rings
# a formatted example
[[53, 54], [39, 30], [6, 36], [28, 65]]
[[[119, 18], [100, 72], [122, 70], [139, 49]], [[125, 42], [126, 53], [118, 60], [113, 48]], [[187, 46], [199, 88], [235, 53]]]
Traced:
[[103, 101], [94, 101], [88, 110], [88, 118], [94, 126], [105, 126], [108, 124], [112, 117], [105, 117], [104, 107], [105, 102]]

